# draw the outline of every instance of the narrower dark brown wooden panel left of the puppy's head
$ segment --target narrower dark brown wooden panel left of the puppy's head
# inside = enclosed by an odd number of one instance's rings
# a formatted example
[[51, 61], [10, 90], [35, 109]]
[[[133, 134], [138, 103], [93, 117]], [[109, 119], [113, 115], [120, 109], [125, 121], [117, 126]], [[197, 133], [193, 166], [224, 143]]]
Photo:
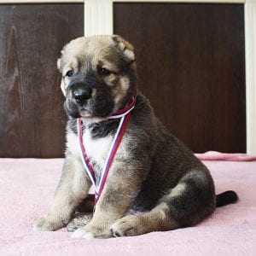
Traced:
[[83, 33], [83, 4], [0, 5], [0, 157], [63, 155], [56, 61]]

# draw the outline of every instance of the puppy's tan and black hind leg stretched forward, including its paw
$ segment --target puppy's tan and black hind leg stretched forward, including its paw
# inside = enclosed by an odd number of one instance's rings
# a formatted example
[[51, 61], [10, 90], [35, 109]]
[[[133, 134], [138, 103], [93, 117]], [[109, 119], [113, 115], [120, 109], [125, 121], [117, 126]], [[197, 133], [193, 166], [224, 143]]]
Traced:
[[200, 222], [215, 207], [212, 178], [205, 172], [189, 172], [164, 195], [150, 212], [120, 218], [113, 236], [137, 236], [152, 231], [175, 230]]

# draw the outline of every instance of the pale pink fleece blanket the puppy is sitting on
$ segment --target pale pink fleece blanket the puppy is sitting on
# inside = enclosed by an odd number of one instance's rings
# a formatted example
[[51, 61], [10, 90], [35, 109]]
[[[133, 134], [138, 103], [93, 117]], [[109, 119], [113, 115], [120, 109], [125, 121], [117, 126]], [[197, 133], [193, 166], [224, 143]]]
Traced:
[[32, 230], [53, 201], [62, 159], [0, 159], [0, 255], [256, 255], [256, 161], [211, 161], [217, 193], [240, 201], [195, 227], [107, 240]]

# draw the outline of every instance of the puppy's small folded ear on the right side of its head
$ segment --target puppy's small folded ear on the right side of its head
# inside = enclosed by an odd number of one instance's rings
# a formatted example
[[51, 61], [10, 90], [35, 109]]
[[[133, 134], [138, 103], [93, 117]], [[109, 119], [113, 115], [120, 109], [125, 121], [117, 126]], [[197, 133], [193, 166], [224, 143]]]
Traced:
[[130, 64], [136, 61], [134, 48], [130, 43], [128, 43], [127, 41], [125, 41], [124, 38], [121, 38], [118, 35], [113, 35], [112, 38], [118, 49], [125, 57], [125, 61], [129, 62]]

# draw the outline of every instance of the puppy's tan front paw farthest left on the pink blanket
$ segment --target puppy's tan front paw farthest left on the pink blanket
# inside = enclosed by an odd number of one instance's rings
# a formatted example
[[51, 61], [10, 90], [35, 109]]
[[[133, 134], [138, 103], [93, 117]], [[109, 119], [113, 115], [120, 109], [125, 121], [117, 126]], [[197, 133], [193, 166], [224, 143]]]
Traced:
[[51, 218], [38, 218], [38, 220], [33, 225], [33, 230], [35, 231], [54, 231], [61, 229], [66, 224], [64, 221], [57, 221]]

